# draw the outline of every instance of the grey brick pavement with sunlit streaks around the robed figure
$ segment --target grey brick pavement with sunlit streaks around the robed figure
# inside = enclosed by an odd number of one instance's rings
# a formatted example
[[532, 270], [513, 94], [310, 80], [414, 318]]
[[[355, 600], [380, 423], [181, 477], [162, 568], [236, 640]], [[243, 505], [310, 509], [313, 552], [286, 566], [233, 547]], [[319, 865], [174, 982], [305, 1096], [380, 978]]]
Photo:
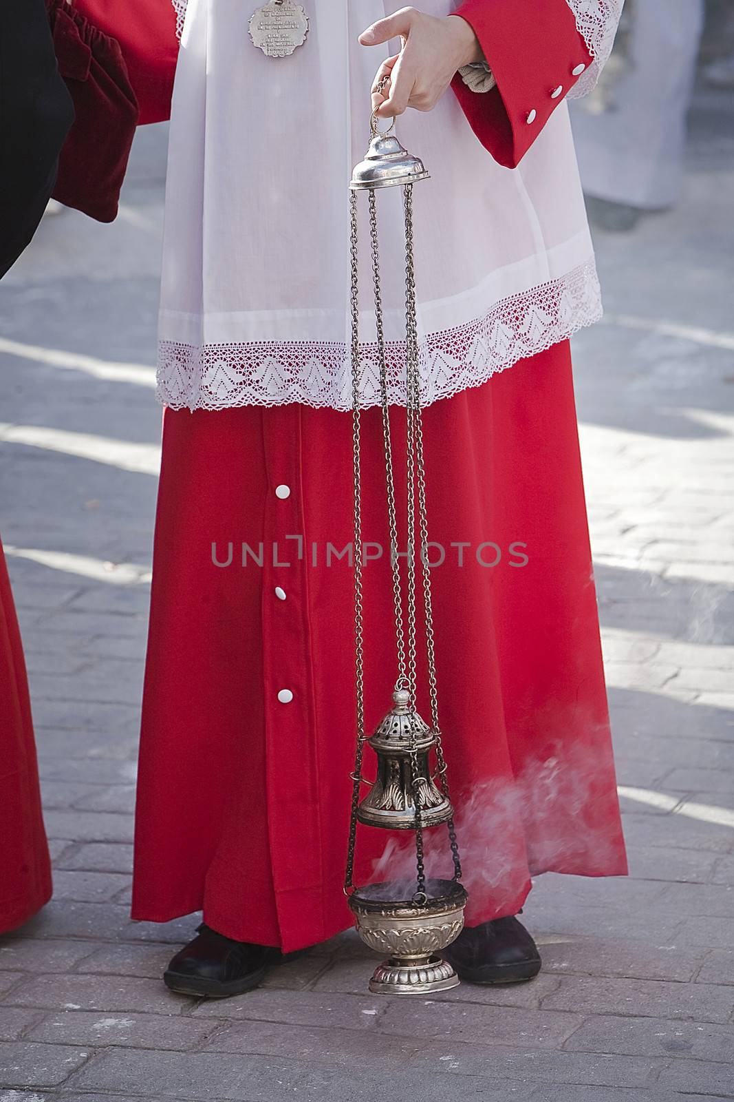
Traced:
[[715, 95], [693, 125], [679, 208], [600, 235], [576, 342], [632, 875], [540, 878], [517, 987], [373, 997], [351, 934], [229, 1002], [162, 986], [194, 921], [128, 896], [165, 133], [117, 224], [46, 220], [2, 288], [0, 511], [55, 895], [0, 940], [0, 1102], [734, 1098], [734, 138]]

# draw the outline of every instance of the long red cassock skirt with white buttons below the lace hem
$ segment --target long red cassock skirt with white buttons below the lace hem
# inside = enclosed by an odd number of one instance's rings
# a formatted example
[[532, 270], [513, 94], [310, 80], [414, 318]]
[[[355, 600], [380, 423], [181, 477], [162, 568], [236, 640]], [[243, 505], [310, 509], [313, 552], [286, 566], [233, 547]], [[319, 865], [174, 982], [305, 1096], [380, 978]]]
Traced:
[[[568, 344], [424, 425], [440, 724], [475, 925], [516, 914], [533, 874], [626, 872]], [[350, 414], [298, 404], [165, 413], [134, 918], [202, 908], [285, 951], [351, 925], [353, 579], [337, 557], [351, 432]], [[379, 409], [362, 435], [363, 539], [385, 549], [364, 569], [370, 731], [396, 679]], [[360, 828], [355, 883], [409, 873], [410, 841]], [[427, 852], [429, 874], [450, 872], [445, 828]]]

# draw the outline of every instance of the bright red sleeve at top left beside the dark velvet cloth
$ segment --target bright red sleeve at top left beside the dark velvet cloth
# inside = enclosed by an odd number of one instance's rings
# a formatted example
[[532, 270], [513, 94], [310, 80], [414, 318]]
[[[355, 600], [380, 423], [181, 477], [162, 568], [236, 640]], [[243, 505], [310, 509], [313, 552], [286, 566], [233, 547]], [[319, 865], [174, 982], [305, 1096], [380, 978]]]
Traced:
[[178, 57], [171, 0], [74, 0], [74, 7], [120, 43], [141, 123], [169, 118]]

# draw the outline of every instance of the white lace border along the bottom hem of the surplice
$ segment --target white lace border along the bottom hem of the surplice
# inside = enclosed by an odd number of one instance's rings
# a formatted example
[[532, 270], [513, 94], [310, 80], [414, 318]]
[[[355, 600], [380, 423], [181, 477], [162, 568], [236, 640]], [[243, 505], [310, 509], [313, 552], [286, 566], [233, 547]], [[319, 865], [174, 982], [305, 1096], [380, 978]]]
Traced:
[[[430, 333], [419, 344], [425, 406], [485, 382], [519, 359], [545, 352], [602, 314], [593, 261], [559, 279], [499, 302], [476, 321]], [[387, 397], [405, 404], [405, 345], [386, 346]], [[380, 403], [377, 347], [360, 348], [362, 406]], [[346, 342], [249, 342], [194, 346], [161, 341], [157, 398], [172, 409], [238, 406], [351, 408], [350, 348]]]

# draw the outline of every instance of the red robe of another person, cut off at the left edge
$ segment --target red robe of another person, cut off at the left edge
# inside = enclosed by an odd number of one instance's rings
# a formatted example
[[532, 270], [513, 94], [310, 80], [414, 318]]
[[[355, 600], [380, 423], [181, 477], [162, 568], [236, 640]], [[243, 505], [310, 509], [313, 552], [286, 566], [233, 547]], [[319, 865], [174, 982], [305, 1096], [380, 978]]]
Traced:
[[51, 898], [23, 647], [0, 543], [0, 933]]

